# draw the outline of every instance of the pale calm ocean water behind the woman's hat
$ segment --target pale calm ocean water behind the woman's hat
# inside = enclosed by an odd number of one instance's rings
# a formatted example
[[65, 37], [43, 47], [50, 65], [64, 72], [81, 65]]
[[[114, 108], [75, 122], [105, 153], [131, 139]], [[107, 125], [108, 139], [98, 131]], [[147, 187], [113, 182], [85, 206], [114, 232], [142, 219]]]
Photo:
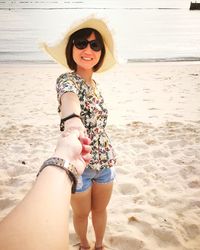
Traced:
[[119, 61], [200, 60], [200, 11], [188, 0], [1, 1], [0, 61], [51, 62], [39, 43], [56, 43], [77, 19], [104, 18]]

